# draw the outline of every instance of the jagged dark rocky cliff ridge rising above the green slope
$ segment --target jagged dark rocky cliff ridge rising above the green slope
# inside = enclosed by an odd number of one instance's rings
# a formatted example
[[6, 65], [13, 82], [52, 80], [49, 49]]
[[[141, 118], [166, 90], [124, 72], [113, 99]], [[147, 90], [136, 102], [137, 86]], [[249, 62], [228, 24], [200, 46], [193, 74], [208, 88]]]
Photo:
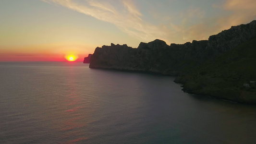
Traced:
[[156, 39], [140, 43], [138, 48], [127, 45], [96, 48], [90, 68], [156, 72], [175, 75], [215, 59], [220, 54], [256, 36], [256, 21], [232, 26], [229, 30], [210, 36], [208, 40], [167, 45]]

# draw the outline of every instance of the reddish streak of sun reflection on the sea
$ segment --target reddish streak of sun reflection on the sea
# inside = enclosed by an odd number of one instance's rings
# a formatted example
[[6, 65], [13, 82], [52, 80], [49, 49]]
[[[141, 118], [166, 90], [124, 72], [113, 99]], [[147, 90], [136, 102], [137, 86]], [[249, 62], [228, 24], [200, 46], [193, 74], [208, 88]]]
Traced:
[[85, 118], [81, 109], [85, 108], [81, 102], [81, 96], [79, 95], [77, 88], [77, 77], [74, 75], [74, 67], [70, 66], [67, 72], [67, 95], [64, 100], [65, 110], [64, 115], [66, 118], [63, 121], [63, 126], [60, 131], [63, 133], [63, 139], [67, 141], [64, 143], [74, 144], [88, 139], [85, 137]]

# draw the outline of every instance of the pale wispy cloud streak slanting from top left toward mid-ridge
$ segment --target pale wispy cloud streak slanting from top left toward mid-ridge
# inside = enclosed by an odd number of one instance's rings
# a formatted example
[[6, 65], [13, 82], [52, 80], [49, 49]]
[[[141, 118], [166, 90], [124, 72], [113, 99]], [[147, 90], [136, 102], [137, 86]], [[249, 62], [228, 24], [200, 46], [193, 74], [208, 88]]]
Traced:
[[[166, 37], [161, 27], [142, 21], [143, 14], [136, 8], [133, 0], [115, 0], [115, 5], [99, 0], [42, 0], [57, 3], [71, 10], [93, 16], [98, 20], [115, 24], [123, 32], [141, 40], [152, 40], [155, 37]], [[114, 6], [121, 8], [117, 8]]]

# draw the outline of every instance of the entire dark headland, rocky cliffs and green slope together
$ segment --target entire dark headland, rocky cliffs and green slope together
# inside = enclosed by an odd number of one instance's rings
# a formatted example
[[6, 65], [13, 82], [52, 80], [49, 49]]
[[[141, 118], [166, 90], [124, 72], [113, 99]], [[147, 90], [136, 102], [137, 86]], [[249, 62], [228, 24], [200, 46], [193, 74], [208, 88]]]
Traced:
[[[155, 72], [178, 76], [183, 90], [256, 104], [256, 21], [232, 26], [208, 40], [167, 45], [162, 40], [102, 46], [91, 56], [90, 68]], [[243, 86], [243, 85], [247, 86]]]

